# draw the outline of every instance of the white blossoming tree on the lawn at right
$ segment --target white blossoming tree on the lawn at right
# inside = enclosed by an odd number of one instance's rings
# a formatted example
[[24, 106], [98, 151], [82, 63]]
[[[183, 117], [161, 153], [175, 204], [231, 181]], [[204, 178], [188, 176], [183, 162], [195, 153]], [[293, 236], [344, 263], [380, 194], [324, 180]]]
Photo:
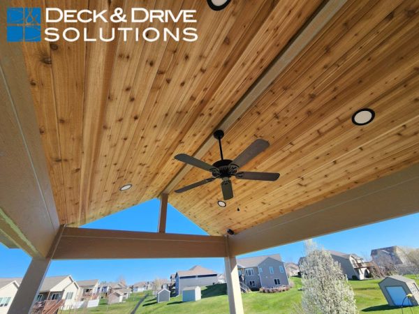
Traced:
[[340, 264], [314, 241], [304, 242], [302, 274], [302, 309], [306, 314], [357, 313], [351, 285]]

